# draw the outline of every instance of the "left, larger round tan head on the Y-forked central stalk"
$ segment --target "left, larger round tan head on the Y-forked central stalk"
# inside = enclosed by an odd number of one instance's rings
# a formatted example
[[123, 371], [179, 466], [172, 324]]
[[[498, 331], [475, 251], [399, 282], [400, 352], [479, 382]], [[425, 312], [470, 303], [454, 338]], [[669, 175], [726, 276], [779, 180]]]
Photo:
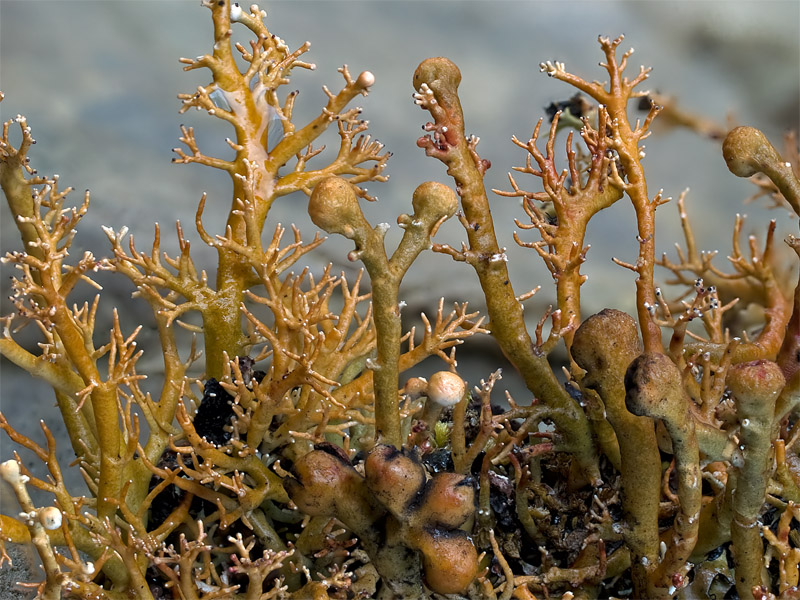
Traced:
[[340, 177], [328, 177], [317, 184], [308, 201], [308, 215], [323, 231], [349, 239], [369, 227], [353, 187]]

